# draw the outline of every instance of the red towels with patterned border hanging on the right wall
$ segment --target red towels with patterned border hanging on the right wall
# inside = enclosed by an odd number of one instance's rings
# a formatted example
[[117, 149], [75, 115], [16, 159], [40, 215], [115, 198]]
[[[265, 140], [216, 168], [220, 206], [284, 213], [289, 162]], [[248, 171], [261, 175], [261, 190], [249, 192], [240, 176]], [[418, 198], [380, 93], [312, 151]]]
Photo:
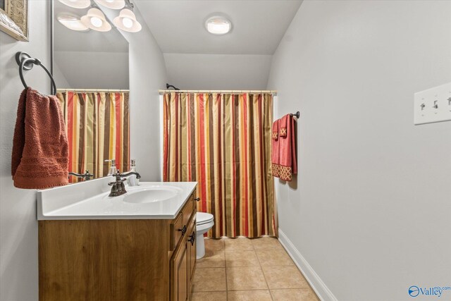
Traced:
[[[292, 175], [297, 173], [295, 118], [287, 114], [276, 122], [278, 122], [279, 134], [276, 157], [271, 156], [273, 176], [290, 181]], [[271, 150], [274, 154], [273, 147]]]

